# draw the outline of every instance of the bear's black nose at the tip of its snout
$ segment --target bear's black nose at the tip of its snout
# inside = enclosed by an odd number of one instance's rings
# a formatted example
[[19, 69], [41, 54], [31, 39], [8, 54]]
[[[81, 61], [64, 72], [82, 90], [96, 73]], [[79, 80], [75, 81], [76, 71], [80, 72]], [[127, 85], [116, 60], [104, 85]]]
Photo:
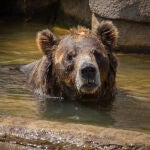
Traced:
[[96, 68], [93, 64], [83, 64], [81, 67], [81, 75], [85, 79], [94, 79], [96, 76]]

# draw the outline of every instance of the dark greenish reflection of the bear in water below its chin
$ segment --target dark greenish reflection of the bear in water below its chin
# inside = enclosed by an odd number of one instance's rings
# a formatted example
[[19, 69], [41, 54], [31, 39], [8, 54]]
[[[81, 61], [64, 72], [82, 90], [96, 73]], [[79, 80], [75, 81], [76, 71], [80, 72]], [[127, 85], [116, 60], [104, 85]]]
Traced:
[[101, 107], [94, 104], [85, 104], [75, 101], [45, 99], [42, 101], [40, 110], [44, 118], [82, 122], [90, 124], [100, 124], [104, 126], [112, 125], [114, 119], [110, 116], [109, 107]]

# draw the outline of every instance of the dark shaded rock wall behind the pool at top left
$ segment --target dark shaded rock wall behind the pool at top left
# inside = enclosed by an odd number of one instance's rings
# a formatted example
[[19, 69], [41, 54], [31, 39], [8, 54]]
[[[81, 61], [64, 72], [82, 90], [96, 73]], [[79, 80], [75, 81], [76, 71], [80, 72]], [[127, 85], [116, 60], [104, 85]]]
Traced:
[[9, 0], [0, 1], [0, 17], [23, 21], [47, 21], [52, 24], [65, 21], [90, 26], [91, 12], [88, 0]]

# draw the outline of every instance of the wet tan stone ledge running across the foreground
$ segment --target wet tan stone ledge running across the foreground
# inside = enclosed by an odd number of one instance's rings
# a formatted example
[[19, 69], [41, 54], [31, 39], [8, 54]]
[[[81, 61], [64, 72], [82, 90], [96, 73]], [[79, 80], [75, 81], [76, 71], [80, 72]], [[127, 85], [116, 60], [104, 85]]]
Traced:
[[53, 149], [150, 149], [150, 135], [92, 125], [0, 118], [0, 141]]

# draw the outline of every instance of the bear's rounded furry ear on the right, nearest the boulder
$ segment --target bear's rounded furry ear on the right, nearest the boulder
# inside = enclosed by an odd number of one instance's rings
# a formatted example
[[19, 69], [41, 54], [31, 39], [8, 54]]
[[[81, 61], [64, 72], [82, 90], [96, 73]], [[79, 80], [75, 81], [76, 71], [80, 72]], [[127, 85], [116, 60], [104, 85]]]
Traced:
[[102, 21], [96, 29], [96, 34], [109, 49], [113, 49], [116, 46], [118, 30], [111, 21]]

